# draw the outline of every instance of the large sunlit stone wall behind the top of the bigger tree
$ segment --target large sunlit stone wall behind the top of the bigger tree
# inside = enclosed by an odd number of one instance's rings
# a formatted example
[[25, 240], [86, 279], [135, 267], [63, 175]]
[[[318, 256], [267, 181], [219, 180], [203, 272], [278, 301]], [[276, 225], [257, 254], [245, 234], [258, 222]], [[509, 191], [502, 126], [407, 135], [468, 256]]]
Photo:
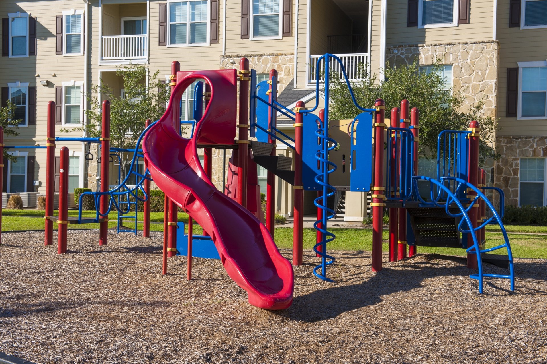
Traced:
[[452, 64], [454, 91], [463, 96], [462, 112], [479, 100], [484, 102], [484, 115], [496, 117], [499, 46], [497, 41], [415, 44], [388, 46], [386, 62], [390, 65], [433, 64], [439, 59]]

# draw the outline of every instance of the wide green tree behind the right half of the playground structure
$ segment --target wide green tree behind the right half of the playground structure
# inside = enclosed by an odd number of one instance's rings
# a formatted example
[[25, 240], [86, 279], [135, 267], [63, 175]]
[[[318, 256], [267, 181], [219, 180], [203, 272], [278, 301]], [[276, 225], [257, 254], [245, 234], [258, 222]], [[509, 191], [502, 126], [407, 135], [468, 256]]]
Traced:
[[[372, 108], [376, 99], [386, 102], [386, 117], [390, 110], [400, 107], [402, 99], [408, 99], [410, 108], [420, 112], [420, 150], [422, 156], [437, 156], [437, 138], [442, 130], [467, 130], [473, 120], [480, 126], [480, 163], [487, 158], [499, 159], [494, 150], [496, 145], [497, 121], [492, 117], [481, 115], [484, 104], [476, 103], [468, 112], [459, 111], [463, 102], [460, 92], [446, 89], [441, 75], [442, 64], [433, 65], [433, 70], [426, 74], [418, 72], [416, 62], [401, 67], [386, 67], [385, 81], [377, 82], [376, 74], [366, 77], [366, 65], [360, 65], [360, 76], [363, 80], [351, 82], [357, 103], [365, 108]], [[331, 77], [330, 116], [335, 119], [353, 119], [360, 111], [353, 105], [345, 81], [340, 81], [337, 74]]]

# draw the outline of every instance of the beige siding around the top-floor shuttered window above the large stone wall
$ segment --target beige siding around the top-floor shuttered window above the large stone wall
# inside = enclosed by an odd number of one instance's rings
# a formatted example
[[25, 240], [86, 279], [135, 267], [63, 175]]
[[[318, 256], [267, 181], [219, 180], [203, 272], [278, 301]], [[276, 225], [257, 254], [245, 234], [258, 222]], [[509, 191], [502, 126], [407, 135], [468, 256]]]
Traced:
[[470, 1], [469, 24], [428, 29], [406, 26], [408, 1], [394, 0], [388, 1], [387, 4], [386, 45], [388, 46], [492, 39], [492, 0]]

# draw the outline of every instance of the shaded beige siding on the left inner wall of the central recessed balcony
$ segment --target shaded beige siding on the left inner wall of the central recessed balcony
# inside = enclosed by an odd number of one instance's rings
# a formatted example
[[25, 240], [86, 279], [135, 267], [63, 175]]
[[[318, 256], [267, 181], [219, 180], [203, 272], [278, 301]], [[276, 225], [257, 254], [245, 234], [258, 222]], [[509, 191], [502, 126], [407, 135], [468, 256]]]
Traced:
[[327, 53], [328, 35], [351, 34], [351, 19], [332, 0], [311, 4], [310, 55]]

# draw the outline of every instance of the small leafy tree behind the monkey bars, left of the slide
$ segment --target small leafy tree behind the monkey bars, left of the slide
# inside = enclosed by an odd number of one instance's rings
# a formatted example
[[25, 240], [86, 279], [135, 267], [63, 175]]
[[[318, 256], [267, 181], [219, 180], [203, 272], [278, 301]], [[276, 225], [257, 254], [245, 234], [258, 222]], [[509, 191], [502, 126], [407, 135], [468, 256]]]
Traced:
[[[62, 129], [62, 131], [83, 130], [91, 138], [100, 138], [102, 110], [99, 98], [103, 96], [110, 101], [110, 146], [123, 149], [135, 148], [139, 136], [144, 131], [146, 120], [159, 120], [164, 115], [165, 105], [170, 97], [170, 88], [158, 79], [159, 74], [159, 70], [155, 71], [150, 77], [153, 81], [147, 85], [147, 70], [144, 65], [129, 64], [117, 69], [116, 75], [122, 76], [124, 80], [124, 97], [114, 94], [112, 87], [100, 80], [99, 85], [91, 87], [94, 96], [86, 95], [91, 105], [98, 105], [98, 109], [90, 108], [85, 111], [88, 123], [83, 127]], [[132, 158], [132, 153], [120, 153], [121, 181], [125, 178], [125, 172], [129, 171]]]

